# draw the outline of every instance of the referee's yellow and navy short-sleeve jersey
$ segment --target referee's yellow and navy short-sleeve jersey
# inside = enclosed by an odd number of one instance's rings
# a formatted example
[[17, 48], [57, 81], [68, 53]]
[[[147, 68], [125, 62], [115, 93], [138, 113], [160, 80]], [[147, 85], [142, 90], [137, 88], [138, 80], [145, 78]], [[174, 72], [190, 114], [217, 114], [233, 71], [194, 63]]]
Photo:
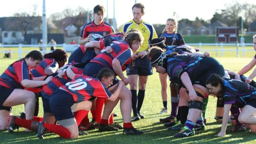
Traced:
[[154, 39], [157, 38], [155, 28], [153, 25], [145, 22], [142, 20], [140, 24], [137, 24], [133, 19], [127, 23], [125, 23], [122, 27], [120, 32], [125, 33], [132, 29], [138, 29], [142, 36], [144, 37], [144, 42], [140, 46], [140, 49], [136, 52], [145, 51], [148, 49], [148, 43]]

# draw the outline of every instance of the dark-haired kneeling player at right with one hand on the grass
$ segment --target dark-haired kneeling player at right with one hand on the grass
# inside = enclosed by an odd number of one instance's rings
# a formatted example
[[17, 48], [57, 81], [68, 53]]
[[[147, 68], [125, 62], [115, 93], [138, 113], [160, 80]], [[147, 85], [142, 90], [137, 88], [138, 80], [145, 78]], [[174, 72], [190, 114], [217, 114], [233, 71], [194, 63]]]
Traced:
[[228, 124], [228, 113], [232, 104], [244, 107], [238, 116], [238, 121], [242, 124], [250, 124], [253, 128], [256, 124], [256, 88], [239, 80], [221, 78], [219, 75], [212, 74], [206, 80], [206, 87], [212, 94], [221, 92], [224, 101], [224, 113], [221, 131], [218, 136], [226, 135]]

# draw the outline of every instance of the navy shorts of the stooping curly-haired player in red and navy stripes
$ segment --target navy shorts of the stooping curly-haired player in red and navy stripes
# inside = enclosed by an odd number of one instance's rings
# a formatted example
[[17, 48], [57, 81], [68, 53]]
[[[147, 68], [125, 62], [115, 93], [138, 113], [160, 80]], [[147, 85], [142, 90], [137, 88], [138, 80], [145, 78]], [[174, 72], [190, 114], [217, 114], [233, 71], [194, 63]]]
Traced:
[[[102, 64], [99, 64], [99, 63], [96, 63], [96, 62], [89, 62], [89, 63], [84, 67], [84, 72], [83, 72], [83, 74], [84, 74], [84, 75], [87, 75], [87, 76], [94, 76], [94, 75], [97, 75], [97, 74], [100, 72], [100, 70], [101, 70], [102, 68], [106, 68], [106, 67], [103, 66]], [[113, 70], [112, 70], [112, 71], [113, 71]], [[113, 80], [113, 84], [110, 85], [110, 87], [113, 86], [113, 85], [115, 85], [115, 84], [117, 84], [117, 83], [118, 83], [118, 79], [117, 79], [116, 76], [115, 76], [115, 78], [114, 78], [114, 80]]]

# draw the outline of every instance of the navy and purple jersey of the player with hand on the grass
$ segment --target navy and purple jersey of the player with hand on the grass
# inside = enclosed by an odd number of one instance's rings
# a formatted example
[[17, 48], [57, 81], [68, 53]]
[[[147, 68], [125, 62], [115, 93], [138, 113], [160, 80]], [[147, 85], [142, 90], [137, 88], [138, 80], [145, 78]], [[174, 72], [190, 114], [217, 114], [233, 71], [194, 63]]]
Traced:
[[250, 84], [234, 79], [223, 79], [222, 96], [224, 104], [245, 106], [248, 101], [256, 99], [256, 89]]

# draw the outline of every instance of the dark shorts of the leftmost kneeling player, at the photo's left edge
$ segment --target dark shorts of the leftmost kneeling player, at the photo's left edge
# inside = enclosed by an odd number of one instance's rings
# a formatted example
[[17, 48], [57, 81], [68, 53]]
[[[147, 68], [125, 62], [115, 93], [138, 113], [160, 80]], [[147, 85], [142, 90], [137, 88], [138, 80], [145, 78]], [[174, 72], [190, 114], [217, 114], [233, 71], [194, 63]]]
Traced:
[[10, 113], [12, 113], [12, 107], [5, 107], [3, 106], [4, 101], [11, 95], [13, 92], [14, 88], [6, 88], [2, 85], [0, 85], [0, 110], [7, 110]]

